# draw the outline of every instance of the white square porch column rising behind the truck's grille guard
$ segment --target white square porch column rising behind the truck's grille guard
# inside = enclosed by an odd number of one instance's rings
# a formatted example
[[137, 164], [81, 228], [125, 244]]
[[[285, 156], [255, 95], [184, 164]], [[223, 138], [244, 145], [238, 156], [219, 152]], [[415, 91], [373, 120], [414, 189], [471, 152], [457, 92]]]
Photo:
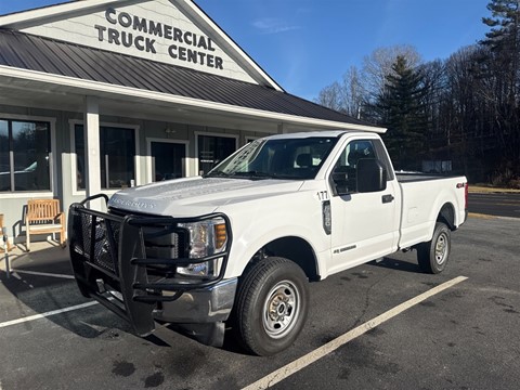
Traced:
[[[101, 159], [100, 159], [100, 103], [98, 98], [84, 98], [84, 174], [87, 196], [101, 193]], [[103, 199], [95, 199], [90, 207], [102, 210]]]

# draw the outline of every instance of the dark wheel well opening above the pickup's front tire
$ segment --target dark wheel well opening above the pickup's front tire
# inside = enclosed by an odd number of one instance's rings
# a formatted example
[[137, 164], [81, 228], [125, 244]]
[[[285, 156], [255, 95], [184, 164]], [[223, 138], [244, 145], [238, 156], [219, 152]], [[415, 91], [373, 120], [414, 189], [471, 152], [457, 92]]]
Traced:
[[257, 257], [277, 256], [289, 259], [301, 266], [309, 281], [320, 281], [314, 250], [308, 242], [299, 237], [277, 238], [266, 244]]

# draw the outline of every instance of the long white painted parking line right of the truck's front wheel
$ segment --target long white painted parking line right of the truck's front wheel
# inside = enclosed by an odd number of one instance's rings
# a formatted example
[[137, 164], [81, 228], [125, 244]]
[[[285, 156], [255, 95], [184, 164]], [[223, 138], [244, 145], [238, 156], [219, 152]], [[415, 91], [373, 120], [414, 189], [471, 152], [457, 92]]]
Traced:
[[317, 360], [326, 356], [330, 352], [337, 350], [339, 347], [346, 344], [347, 342], [353, 340], [354, 338], [365, 334], [366, 332], [374, 329], [376, 326], [387, 322], [388, 320], [394, 317], [398, 314], [401, 314], [405, 310], [422, 302], [424, 300], [450, 288], [455, 286], [456, 284], [466, 281], [466, 276], [458, 276], [454, 280], [451, 280], [446, 283], [443, 283], [426, 292], [418, 295], [415, 298], [407, 300], [393, 309], [378, 315], [377, 317], [367, 321], [363, 325], [358, 326], [356, 328], [339, 336], [338, 338], [334, 339], [330, 342], [320, 347], [318, 349], [309, 352], [307, 355], [297, 359], [296, 361], [283, 366], [282, 368], [276, 369], [275, 372], [269, 374], [268, 376], [257, 380], [256, 382], [245, 387], [243, 390], [260, 390], [260, 389], [268, 389], [275, 384], [284, 380], [285, 378], [296, 374], [300, 369], [307, 367], [308, 365], [316, 362]]

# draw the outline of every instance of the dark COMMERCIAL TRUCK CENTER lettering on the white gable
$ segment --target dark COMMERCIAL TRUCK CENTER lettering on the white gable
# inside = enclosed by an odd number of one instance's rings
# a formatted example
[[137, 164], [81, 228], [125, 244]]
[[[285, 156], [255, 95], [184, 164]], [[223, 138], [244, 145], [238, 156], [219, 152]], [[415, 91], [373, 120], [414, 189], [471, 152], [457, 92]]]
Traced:
[[119, 12], [113, 8], [105, 11], [104, 18], [106, 25], [94, 24], [100, 42], [157, 54], [158, 50], [165, 48], [157, 44], [157, 40], [161, 40], [167, 42], [167, 55], [173, 60], [224, 69], [224, 61], [214, 54], [214, 42], [205, 35]]

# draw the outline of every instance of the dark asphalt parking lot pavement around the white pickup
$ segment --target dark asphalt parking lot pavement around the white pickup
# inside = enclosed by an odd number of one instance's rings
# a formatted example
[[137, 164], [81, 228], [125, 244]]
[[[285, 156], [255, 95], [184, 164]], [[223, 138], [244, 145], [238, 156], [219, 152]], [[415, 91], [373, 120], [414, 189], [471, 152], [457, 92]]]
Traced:
[[516, 390], [519, 231], [520, 220], [469, 219], [453, 234], [451, 260], [440, 275], [420, 273], [415, 253], [407, 252], [312, 284], [311, 312], [300, 338], [270, 359], [244, 354], [232, 340], [222, 349], [205, 347], [167, 325], [139, 338], [99, 304], [25, 321], [90, 302], [67, 277], [67, 250], [47, 244], [13, 256], [17, 272], [9, 281], [0, 273], [0, 389], [240, 389], [465, 276], [274, 388]]

